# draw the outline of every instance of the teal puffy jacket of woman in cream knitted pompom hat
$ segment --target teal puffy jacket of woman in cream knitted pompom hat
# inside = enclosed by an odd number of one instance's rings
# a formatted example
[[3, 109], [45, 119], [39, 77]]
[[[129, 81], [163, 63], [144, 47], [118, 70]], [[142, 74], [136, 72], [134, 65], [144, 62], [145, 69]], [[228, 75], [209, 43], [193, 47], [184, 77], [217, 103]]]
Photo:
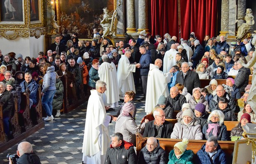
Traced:
[[171, 150], [169, 153], [169, 162], [168, 164], [194, 164], [193, 159], [193, 151], [192, 150], [185, 150], [183, 155], [178, 159], [174, 154], [174, 150]]

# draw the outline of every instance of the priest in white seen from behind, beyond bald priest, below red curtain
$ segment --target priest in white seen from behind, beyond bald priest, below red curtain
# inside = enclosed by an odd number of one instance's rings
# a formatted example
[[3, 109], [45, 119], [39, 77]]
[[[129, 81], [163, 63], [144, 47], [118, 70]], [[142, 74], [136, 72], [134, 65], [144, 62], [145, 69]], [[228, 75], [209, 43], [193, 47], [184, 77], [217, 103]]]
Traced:
[[176, 51], [176, 45], [172, 44], [171, 49], [165, 52], [163, 73], [169, 72], [171, 67], [176, 65], [176, 53], [178, 53], [178, 51]]

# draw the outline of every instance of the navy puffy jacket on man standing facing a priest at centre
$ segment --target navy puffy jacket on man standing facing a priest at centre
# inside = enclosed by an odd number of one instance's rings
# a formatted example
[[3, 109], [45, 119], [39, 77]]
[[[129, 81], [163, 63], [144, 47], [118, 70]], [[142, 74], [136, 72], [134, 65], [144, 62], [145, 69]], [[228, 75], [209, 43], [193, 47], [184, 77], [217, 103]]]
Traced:
[[149, 74], [149, 64], [151, 64], [151, 54], [149, 51], [146, 51], [146, 53], [140, 57], [139, 64], [140, 75], [147, 76]]

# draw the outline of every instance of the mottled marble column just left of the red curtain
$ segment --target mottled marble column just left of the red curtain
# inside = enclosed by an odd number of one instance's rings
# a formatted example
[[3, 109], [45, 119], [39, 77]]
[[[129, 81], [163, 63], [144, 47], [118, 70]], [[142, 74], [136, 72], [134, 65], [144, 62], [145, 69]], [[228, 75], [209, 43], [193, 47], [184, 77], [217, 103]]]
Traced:
[[146, 30], [146, 33], [149, 33], [149, 29], [148, 29], [148, 0], [139, 0], [138, 33], [143, 30]]

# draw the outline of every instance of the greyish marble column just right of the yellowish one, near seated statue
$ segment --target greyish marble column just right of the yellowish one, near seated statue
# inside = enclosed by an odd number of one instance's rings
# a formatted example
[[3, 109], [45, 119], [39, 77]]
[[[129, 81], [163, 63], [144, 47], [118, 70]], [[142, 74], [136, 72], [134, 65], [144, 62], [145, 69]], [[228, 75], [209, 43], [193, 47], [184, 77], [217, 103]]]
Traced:
[[229, 36], [235, 38], [236, 0], [229, 0]]

